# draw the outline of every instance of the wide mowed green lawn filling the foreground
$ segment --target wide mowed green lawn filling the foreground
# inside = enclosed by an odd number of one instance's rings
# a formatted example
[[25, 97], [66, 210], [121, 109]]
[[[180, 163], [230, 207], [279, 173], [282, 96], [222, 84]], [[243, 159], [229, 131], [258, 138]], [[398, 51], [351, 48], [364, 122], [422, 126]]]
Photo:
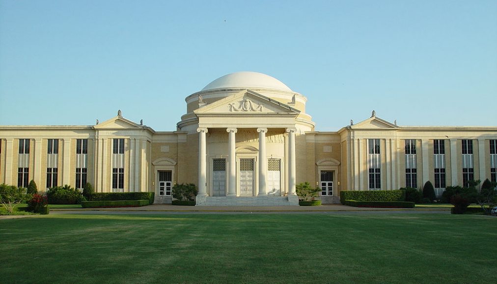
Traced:
[[2, 283], [495, 283], [497, 218], [48, 215], [0, 220]]

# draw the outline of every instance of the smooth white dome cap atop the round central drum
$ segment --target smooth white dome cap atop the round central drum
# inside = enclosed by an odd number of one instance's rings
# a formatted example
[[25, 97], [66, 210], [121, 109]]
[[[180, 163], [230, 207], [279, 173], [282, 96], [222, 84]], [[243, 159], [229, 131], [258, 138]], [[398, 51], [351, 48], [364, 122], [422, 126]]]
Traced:
[[215, 89], [263, 88], [293, 92], [276, 78], [258, 72], [235, 72], [210, 82], [202, 91]]

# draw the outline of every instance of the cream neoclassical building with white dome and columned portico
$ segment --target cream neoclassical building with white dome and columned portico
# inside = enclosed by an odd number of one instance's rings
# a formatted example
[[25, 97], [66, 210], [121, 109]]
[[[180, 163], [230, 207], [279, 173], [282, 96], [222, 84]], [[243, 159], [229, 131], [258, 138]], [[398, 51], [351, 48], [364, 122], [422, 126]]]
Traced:
[[117, 116], [95, 125], [0, 126], [0, 182], [41, 189], [90, 182], [97, 192], [152, 191], [171, 202], [194, 183], [197, 205], [297, 205], [296, 184], [322, 190], [422, 187], [436, 193], [497, 179], [497, 127], [399, 126], [371, 114], [315, 130], [307, 98], [256, 72], [222, 76], [185, 99], [176, 131]]

